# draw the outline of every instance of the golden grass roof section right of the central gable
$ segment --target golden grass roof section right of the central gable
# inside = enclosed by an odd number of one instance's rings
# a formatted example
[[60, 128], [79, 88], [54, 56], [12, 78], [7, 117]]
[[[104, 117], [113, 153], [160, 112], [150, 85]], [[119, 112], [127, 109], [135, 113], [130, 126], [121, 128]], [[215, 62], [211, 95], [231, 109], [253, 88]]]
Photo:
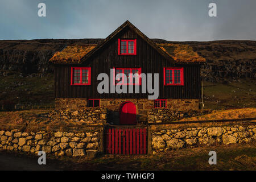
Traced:
[[168, 53], [176, 62], [195, 63], [205, 62], [204, 57], [201, 57], [193, 48], [186, 44], [157, 44], [164, 52]]

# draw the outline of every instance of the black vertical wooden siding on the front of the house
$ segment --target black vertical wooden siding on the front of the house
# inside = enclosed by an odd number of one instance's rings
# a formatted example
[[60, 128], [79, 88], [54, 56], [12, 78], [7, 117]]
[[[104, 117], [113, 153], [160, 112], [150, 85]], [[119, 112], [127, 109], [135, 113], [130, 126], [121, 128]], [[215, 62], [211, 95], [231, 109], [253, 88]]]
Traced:
[[[137, 55], [118, 55], [118, 38], [137, 39]], [[71, 85], [71, 67], [91, 67], [91, 85]], [[99, 94], [97, 76], [107, 73], [110, 79], [110, 68], [141, 68], [142, 73], [159, 73], [160, 98], [200, 98], [200, 65], [176, 64], [166, 60], [159, 52], [147, 44], [135, 32], [125, 28], [108, 44], [97, 52], [97, 55], [84, 64], [55, 65], [56, 98], [147, 98], [148, 94]], [[164, 86], [163, 68], [183, 67], [184, 86]], [[154, 80], [154, 79], [153, 79]], [[109, 80], [110, 81], [110, 80]], [[110, 83], [109, 83], [110, 85]], [[153, 84], [154, 85], [154, 84]], [[109, 88], [110, 92], [110, 88]]]

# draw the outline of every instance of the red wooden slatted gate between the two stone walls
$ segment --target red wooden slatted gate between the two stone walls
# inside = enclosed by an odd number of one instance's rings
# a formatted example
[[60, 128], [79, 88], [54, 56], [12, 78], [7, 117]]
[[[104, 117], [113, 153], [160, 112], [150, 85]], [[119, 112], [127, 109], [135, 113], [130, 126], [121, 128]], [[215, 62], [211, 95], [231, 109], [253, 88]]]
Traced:
[[147, 154], [146, 129], [106, 129], [107, 154]]

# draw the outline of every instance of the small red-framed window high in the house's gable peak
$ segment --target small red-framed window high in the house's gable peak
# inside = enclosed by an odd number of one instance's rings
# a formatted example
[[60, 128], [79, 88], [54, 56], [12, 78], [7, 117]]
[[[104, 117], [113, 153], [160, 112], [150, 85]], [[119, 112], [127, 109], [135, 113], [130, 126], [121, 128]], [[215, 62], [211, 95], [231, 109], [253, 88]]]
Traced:
[[136, 55], [137, 42], [136, 39], [118, 39], [118, 55]]

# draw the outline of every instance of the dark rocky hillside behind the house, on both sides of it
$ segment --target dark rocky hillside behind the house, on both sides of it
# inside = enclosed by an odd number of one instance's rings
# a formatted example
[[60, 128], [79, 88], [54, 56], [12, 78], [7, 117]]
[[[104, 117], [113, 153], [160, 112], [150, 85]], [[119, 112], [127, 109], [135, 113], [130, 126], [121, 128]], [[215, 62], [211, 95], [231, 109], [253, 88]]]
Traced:
[[[5, 70], [19, 71], [22, 75], [51, 73], [49, 59], [53, 53], [72, 44], [97, 44], [102, 39], [38, 39], [0, 40], [0, 76]], [[218, 40], [212, 42], [168, 42], [152, 39], [156, 43], [188, 44], [203, 56], [204, 80], [212, 82], [236, 81], [256, 78], [256, 41]], [[35, 73], [35, 74], [34, 74]]]

